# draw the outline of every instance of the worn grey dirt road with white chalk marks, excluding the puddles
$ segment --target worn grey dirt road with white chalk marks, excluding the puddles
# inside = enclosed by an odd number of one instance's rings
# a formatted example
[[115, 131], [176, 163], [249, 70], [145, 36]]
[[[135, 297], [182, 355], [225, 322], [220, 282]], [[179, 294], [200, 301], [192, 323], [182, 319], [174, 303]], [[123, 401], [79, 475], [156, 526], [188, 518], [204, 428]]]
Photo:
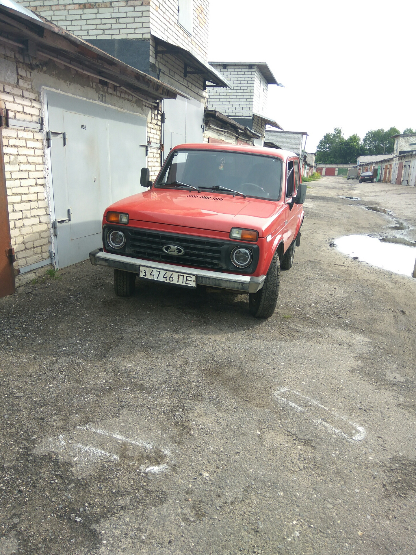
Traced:
[[416, 190], [311, 185], [267, 321], [89, 262], [0, 300], [1, 555], [416, 552], [416, 280], [331, 246]]

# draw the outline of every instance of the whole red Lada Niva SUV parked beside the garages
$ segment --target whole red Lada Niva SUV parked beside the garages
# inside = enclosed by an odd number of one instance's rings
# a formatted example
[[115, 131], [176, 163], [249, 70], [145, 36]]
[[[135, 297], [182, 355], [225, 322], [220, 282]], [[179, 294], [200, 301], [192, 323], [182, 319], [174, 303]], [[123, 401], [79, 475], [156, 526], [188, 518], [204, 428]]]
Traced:
[[219, 287], [248, 294], [250, 312], [276, 307], [280, 269], [300, 245], [306, 184], [286, 150], [182, 144], [155, 182], [109, 206], [103, 248], [92, 264], [114, 268], [116, 295], [130, 296], [136, 277], [179, 287]]

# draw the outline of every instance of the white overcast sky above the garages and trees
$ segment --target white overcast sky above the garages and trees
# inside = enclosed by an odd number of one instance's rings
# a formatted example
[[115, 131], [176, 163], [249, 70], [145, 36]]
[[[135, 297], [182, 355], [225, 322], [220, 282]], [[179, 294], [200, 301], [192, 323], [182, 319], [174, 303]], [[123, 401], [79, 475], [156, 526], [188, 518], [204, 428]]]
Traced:
[[210, 0], [209, 60], [267, 62], [268, 115], [325, 133], [416, 127], [415, 0]]

